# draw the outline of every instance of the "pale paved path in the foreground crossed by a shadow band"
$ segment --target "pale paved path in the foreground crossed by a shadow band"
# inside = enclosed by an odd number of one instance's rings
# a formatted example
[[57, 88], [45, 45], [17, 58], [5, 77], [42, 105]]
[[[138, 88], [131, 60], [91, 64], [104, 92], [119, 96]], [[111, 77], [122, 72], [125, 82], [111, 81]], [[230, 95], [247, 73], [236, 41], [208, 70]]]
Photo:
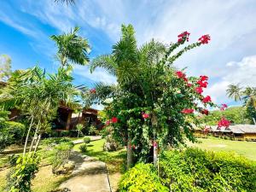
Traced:
[[71, 192], [111, 192], [106, 164], [86, 155], [73, 152], [71, 160], [75, 161], [75, 169], [71, 177], [60, 188]]

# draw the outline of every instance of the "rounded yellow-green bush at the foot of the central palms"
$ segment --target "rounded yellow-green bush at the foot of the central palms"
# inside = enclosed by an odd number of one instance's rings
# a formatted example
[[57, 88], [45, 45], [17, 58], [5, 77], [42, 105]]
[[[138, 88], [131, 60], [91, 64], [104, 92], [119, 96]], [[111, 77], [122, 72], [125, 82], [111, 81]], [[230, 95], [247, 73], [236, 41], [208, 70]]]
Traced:
[[150, 164], [137, 164], [121, 178], [120, 192], [167, 192], [168, 188], [160, 183], [160, 177]]

